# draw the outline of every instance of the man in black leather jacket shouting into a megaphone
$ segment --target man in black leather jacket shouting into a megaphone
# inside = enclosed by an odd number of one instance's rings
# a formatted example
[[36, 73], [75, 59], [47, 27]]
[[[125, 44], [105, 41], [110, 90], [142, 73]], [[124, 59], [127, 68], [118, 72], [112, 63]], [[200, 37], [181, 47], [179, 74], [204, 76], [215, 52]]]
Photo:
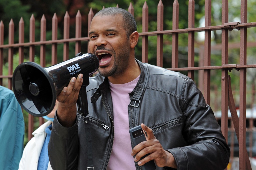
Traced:
[[[100, 59], [87, 87], [92, 147], [87, 121], [76, 114], [80, 74], [57, 97], [48, 145], [53, 169], [141, 169], [150, 160], [156, 169], [225, 169], [230, 150], [201, 92], [187, 76], [136, 60], [138, 36], [124, 9], [105, 8], [92, 19], [89, 50]], [[147, 141], [132, 146], [129, 129], [137, 125]]]

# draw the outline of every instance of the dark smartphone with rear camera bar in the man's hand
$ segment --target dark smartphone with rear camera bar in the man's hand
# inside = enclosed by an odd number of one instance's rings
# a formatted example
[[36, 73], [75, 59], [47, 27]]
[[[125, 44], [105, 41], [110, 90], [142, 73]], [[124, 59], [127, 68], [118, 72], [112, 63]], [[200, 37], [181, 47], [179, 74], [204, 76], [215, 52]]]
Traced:
[[[131, 136], [132, 143], [133, 143], [134, 146], [136, 146], [137, 144], [139, 144], [143, 141], [146, 141], [146, 137], [145, 137], [143, 129], [141, 128], [140, 125], [136, 126], [134, 128], [131, 128], [129, 130], [129, 132], [130, 132], [130, 136]], [[149, 155], [149, 154], [146, 154], [141, 159], [143, 159], [147, 155]], [[141, 167], [142, 167], [142, 170], [154, 170], [154, 169], [156, 169], [156, 165], [155, 165], [155, 162], [153, 160], [145, 163]]]

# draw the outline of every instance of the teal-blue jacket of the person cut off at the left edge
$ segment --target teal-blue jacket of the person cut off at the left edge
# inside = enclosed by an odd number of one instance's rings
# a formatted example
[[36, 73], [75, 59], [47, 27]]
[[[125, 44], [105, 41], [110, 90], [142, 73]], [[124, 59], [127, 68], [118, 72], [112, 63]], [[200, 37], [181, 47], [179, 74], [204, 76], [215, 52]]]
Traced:
[[0, 86], [0, 170], [18, 169], [24, 132], [21, 106], [12, 90]]

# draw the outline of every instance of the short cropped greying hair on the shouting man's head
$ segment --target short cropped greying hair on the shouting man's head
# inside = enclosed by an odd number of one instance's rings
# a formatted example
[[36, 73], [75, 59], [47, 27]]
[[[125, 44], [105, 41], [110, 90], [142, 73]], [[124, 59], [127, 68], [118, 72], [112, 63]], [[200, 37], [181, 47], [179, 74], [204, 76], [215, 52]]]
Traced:
[[137, 31], [137, 25], [136, 25], [135, 18], [127, 10], [122, 8], [109, 7], [109, 8], [104, 8], [100, 10], [94, 16], [106, 16], [106, 15], [115, 16], [118, 14], [121, 14], [123, 16], [123, 28], [126, 32], [127, 38], [129, 38], [131, 33], [133, 33], [134, 31]]

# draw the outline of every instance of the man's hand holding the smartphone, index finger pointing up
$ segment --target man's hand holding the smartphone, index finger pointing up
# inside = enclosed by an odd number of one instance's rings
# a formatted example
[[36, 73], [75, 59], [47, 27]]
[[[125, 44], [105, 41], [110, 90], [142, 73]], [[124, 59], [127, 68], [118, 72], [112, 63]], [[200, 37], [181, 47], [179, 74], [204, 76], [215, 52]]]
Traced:
[[161, 143], [155, 138], [152, 129], [143, 123], [141, 124], [141, 127], [147, 133], [147, 141], [141, 142], [133, 148], [131, 155], [136, 155], [134, 161], [139, 161], [141, 157], [149, 153], [150, 155], [140, 160], [138, 165], [141, 166], [151, 160], [154, 160], [158, 167], [169, 166], [177, 168], [173, 155], [163, 149]]

